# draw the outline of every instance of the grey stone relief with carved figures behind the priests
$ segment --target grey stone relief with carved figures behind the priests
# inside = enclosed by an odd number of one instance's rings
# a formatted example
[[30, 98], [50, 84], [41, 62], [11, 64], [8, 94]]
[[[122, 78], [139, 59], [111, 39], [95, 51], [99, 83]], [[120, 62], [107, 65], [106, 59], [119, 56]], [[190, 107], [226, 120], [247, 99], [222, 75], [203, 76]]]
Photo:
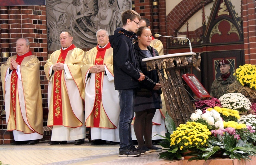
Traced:
[[60, 49], [59, 35], [68, 31], [78, 48], [97, 45], [96, 31], [109, 35], [122, 27], [122, 12], [131, 9], [131, 0], [46, 0], [48, 50]]

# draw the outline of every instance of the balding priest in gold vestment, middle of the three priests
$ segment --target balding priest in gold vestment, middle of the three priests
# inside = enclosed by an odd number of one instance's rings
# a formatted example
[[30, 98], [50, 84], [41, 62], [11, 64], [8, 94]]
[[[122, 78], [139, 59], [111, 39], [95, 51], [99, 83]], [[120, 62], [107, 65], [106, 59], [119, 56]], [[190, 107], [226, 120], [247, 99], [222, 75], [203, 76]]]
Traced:
[[46, 61], [44, 72], [48, 85], [48, 121], [53, 127], [48, 144], [75, 145], [84, 143], [84, 84], [80, 64], [84, 51], [72, 44], [69, 32], [60, 34], [61, 49], [56, 50]]

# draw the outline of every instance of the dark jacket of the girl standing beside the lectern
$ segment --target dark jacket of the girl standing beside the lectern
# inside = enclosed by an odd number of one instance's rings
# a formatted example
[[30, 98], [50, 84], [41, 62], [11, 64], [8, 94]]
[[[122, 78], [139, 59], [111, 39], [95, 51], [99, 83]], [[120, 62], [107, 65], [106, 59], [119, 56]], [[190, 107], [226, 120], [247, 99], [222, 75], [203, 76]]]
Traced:
[[[157, 70], [148, 71], [146, 62], [142, 61], [142, 59], [147, 58], [146, 54], [144, 54], [139, 45], [138, 42], [133, 44], [135, 53], [136, 53], [136, 60], [137, 60], [137, 68], [140, 72], [142, 72], [145, 75], [145, 80], [140, 81], [140, 87], [141, 88], [147, 88], [147, 89], [153, 89], [156, 85], [156, 83], [160, 82]], [[153, 49], [153, 47], [148, 46], [147, 49], [150, 51], [150, 53], [154, 56], [158, 56], [158, 52], [156, 49]], [[154, 51], [154, 52], [153, 52]], [[160, 69], [161, 77], [164, 77], [163, 70]], [[161, 89], [160, 89], [161, 90]]]

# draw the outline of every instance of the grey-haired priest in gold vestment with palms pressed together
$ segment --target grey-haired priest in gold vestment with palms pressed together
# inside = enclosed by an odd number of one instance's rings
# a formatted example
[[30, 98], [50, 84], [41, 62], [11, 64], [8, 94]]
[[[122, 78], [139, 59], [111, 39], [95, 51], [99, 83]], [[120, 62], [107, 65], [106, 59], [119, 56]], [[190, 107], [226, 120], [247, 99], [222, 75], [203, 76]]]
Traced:
[[43, 138], [40, 62], [26, 38], [17, 40], [16, 52], [1, 65], [7, 131], [13, 131], [11, 145], [34, 145]]

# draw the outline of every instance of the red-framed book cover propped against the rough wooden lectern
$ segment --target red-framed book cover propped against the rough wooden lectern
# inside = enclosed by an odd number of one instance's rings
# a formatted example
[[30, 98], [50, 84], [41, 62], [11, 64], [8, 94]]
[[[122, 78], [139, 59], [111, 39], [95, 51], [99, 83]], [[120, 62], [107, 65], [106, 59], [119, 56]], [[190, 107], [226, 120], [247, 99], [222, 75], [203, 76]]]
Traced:
[[211, 97], [194, 74], [185, 73], [181, 76], [198, 98]]

